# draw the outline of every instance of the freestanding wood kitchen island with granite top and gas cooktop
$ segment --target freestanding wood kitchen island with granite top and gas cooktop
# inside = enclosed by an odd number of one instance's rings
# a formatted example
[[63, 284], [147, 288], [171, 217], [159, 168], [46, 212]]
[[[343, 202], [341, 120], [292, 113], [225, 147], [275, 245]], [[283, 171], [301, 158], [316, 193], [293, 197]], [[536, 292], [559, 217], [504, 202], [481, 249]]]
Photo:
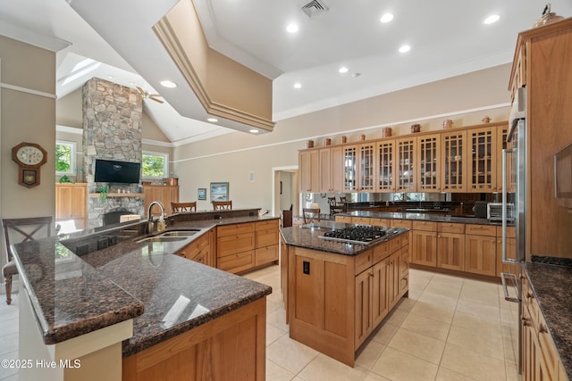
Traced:
[[407, 228], [373, 228], [367, 243], [357, 243], [362, 232], [324, 238], [348, 228], [282, 228], [281, 281], [290, 337], [353, 367], [359, 346], [408, 294], [409, 253]]

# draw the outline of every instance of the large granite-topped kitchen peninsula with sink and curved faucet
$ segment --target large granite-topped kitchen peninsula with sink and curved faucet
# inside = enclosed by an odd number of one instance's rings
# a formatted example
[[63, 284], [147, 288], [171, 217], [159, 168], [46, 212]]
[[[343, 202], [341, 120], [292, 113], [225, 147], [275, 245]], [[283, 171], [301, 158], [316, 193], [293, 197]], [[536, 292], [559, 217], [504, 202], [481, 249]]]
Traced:
[[[264, 380], [271, 287], [173, 254], [217, 228], [277, 218], [195, 214], [169, 216], [174, 224], [152, 236], [143, 220], [15, 245], [29, 296], [20, 357], [57, 364], [21, 369], [21, 379]], [[61, 366], [74, 360], [79, 368]]]

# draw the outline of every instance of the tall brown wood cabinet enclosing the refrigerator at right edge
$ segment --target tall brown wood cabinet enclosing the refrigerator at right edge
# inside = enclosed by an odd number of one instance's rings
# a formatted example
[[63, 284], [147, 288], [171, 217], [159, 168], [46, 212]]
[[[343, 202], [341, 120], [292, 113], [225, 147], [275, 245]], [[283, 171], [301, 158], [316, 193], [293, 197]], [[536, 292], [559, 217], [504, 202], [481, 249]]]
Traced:
[[[572, 19], [518, 35], [509, 90], [526, 85], [526, 255], [570, 258], [572, 213], [554, 197], [554, 153], [572, 143]], [[521, 100], [522, 102], [522, 100]]]

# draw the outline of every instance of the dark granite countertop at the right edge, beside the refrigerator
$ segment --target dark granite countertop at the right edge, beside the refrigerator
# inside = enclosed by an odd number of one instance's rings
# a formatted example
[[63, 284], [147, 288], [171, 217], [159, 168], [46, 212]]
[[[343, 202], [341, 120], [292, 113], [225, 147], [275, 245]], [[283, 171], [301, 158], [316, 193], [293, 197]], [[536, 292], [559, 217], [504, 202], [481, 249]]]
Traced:
[[[555, 265], [552, 263], [558, 263]], [[526, 263], [534, 297], [558, 349], [568, 378], [572, 380], [572, 261], [535, 257]]]

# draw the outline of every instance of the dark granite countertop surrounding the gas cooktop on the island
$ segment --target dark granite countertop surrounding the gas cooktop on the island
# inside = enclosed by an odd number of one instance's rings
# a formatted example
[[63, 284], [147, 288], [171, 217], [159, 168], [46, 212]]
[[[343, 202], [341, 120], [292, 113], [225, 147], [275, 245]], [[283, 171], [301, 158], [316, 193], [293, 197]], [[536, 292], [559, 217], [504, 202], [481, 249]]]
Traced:
[[383, 239], [375, 241], [374, 244], [346, 244], [319, 237], [324, 236], [326, 231], [331, 231], [335, 228], [346, 228], [351, 225], [352, 224], [342, 222], [321, 221], [306, 225], [297, 225], [290, 228], [281, 228], [280, 230], [286, 244], [343, 255], [357, 255], [359, 253], [363, 253], [374, 247], [374, 245], [383, 244], [383, 242], [389, 241], [391, 238], [399, 236], [409, 230], [407, 228], [391, 228], [391, 234], [384, 236]]

